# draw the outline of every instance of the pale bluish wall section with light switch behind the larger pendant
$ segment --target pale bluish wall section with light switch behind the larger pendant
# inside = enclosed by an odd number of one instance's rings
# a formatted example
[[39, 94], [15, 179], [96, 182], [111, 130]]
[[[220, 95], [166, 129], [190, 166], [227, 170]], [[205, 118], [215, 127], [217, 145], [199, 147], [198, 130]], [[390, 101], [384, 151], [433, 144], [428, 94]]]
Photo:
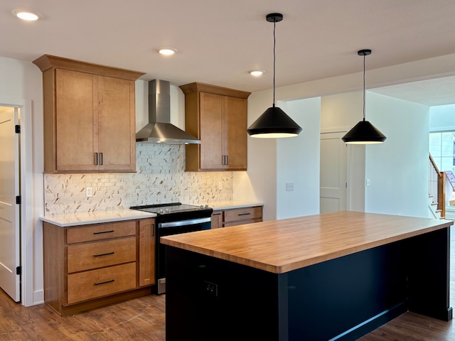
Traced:
[[[279, 107], [302, 131], [290, 139], [277, 139], [277, 219], [316, 215], [319, 213], [321, 99], [280, 102]], [[294, 183], [294, 191], [287, 191], [286, 183]]]

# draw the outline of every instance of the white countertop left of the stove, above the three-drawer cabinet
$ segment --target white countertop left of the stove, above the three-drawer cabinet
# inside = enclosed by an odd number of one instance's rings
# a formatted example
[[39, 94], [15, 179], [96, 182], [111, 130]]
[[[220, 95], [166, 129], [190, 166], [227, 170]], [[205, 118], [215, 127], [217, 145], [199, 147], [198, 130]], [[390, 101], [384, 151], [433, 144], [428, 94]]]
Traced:
[[96, 211], [87, 213], [73, 213], [68, 215], [45, 215], [40, 217], [43, 222], [50, 222], [60, 227], [75, 225], [97, 224], [100, 222], [118, 222], [120, 220], [134, 220], [156, 217], [155, 213], [137, 210]]

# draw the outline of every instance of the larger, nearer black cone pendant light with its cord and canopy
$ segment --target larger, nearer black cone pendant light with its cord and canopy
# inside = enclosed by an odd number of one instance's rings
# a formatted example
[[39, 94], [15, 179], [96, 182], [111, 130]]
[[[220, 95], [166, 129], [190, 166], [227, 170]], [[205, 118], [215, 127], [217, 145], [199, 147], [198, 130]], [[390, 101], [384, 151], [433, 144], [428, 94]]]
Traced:
[[278, 138], [299, 135], [301, 127], [287, 116], [279, 107], [275, 107], [275, 24], [283, 20], [282, 13], [270, 13], [266, 16], [267, 21], [273, 23], [273, 105], [267, 109], [247, 129], [252, 137]]

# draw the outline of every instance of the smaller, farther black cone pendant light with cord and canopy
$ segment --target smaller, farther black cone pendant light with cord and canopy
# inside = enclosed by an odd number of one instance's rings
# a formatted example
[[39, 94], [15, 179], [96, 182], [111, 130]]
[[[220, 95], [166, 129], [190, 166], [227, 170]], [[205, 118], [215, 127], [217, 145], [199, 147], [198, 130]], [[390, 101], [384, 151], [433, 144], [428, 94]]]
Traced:
[[357, 54], [363, 55], [363, 121], [355, 124], [342, 140], [346, 144], [382, 144], [386, 137], [373, 124], [365, 121], [365, 55], [370, 55], [371, 50], [360, 50]]

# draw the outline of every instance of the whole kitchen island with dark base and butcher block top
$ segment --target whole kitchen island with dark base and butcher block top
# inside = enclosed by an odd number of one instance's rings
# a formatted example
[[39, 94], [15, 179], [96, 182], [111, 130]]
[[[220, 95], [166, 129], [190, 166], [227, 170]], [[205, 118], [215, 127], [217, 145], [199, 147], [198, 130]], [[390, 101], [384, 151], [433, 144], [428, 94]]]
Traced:
[[407, 310], [451, 320], [446, 220], [334, 212], [166, 244], [166, 341], [356, 340]]

